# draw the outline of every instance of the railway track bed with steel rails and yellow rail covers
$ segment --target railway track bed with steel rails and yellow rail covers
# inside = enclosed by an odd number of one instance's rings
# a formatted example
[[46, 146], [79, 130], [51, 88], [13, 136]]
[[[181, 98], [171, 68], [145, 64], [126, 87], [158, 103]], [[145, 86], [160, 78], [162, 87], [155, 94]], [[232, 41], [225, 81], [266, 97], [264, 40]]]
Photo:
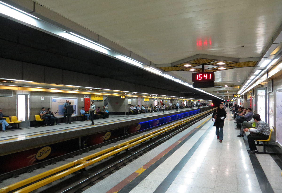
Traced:
[[[83, 192], [149, 150], [208, 116], [212, 110], [173, 121], [169, 125], [167, 124], [168, 126], [162, 125], [151, 130], [135, 133], [134, 136], [129, 135], [126, 139], [115, 139], [107, 144], [99, 144], [100, 146], [97, 147], [92, 146], [84, 150], [84, 152], [73, 152], [73, 154], [58, 157], [56, 162], [53, 160], [50, 163], [49, 161], [49, 163], [45, 163], [46, 165], [41, 163], [39, 168], [32, 170], [29, 168], [27, 171], [31, 172], [28, 173], [29, 176], [33, 173], [39, 173], [38, 175], [1, 188], [0, 193]], [[58, 167], [56, 167], [57, 165]], [[49, 168], [52, 169], [48, 170]]]

